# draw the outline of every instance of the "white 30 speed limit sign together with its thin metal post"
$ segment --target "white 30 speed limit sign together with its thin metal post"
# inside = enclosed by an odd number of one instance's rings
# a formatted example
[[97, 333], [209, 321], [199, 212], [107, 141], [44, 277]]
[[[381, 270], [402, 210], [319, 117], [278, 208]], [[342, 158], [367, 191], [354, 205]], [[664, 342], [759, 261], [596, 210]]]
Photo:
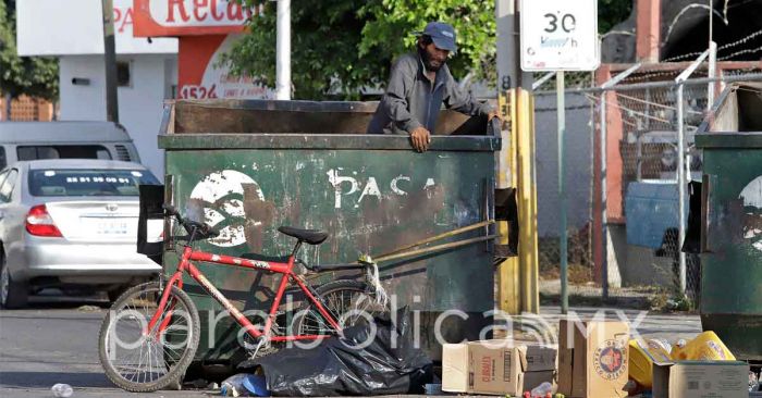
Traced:
[[[566, 220], [566, 104], [564, 71], [594, 71], [600, 64], [598, 0], [520, 0], [521, 70], [555, 72], [558, 133], [558, 258], [561, 312], [568, 312]], [[605, 237], [604, 237], [605, 239]]]

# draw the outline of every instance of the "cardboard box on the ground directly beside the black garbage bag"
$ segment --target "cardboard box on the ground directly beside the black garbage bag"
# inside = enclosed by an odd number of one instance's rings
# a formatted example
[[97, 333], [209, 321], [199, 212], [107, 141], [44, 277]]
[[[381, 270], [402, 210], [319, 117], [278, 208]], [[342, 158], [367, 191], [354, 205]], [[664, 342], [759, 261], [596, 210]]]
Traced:
[[556, 351], [555, 347], [511, 340], [469, 343], [467, 393], [521, 395], [543, 382], [553, 384]]

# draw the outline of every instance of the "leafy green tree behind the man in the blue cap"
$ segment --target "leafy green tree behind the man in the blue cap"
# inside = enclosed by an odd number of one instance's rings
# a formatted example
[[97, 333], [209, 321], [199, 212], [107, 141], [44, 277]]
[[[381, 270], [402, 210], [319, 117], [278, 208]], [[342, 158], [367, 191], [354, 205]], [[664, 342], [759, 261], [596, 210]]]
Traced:
[[[248, 22], [249, 32], [225, 54], [232, 72], [260, 76], [275, 86], [276, 2]], [[447, 61], [453, 75], [496, 80], [493, 0], [296, 0], [292, 7], [292, 82], [296, 99], [357, 99], [381, 87], [393, 60], [415, 48], [416, 30], [430, 21], [451, 23], [458, 52]], [[599, 0], [599, 27], [624, 21], [632, 0]]]

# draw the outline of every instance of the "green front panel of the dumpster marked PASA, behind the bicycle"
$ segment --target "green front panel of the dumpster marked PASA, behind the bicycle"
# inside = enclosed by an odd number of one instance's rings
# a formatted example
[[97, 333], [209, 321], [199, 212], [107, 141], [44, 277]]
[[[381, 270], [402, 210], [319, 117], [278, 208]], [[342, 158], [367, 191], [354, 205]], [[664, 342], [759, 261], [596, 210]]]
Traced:
[[[231, 256], [285, 256], [295, 241], [280, 234], [279, 226], [328, 231], [330, 238], [322, 245], [303, 247], [300, 258], [307, 263], [352, 262], [364, 252], [380, 254], [483, 221], [489, 216], [493, 170], [492, 151], [167, 151], [167, 173], [174, 176], [174, 185], [168, 189], [173, 189], [174, 204], [189, 217], [222, 232], [218, 238], [200, 242], [200, 249]], [[484, 235], [484, 229], [471, 231], [438, 244]], [[447, 310], [464, 311], [469, 322], [483, 326], [488, 321], [481, 313], [493, 308], [492, 254], [488, 249], [488, 244], [479, 242], [383, 263], [381, 278], [400, 304], [428, 314], [421, 321], [430, 321], [430, 327], [422, 332], [427, 335], [434, 334], [433, 314]], [[171, 273], [176, 257], [165, 259], [165, 272]], [[242, 310], [269, 308], [280, 278], [211, 264], [199, 264], [199, 269]], [[332, 276], [340, 277], [321, 274], [318, 282]], [[186, 283], [199, 310], [221, 310], [213, 300], [200, 296], [200, 287], [193, 281]], [[478, 334], [480, 327], [472, 326], [460, 331], [450, 327], [448, 336], [474, 337], [464, 336], [468, 331]], [[230, 335], [229, 327], [218, 331], [216, 338], [224, 333]], [[204, 333], [201, 337], [202, 341], [209, 338]], [[230, 352], [219, 348], [224, 346], [222, 341], [210, 346], [217, 347], [205, 350], [202, 345], [199, 356], [229, 358]]]

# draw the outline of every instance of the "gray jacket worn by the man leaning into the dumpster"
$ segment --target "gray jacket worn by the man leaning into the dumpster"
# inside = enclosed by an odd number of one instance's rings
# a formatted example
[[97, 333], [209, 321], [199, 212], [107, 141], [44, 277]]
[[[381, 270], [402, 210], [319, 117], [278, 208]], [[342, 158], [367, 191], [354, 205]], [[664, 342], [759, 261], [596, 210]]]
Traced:
[[409, 134], [420, 126], [433, 134], [443, 102], [446, 108], [471, 116], [487, 115], [492, 110], [462, 90], [446, 64], [437, 71], [433, 89], [425, 71], [418, 53], [397, 60], [386, 92], [368, 125], [369, 134]]

